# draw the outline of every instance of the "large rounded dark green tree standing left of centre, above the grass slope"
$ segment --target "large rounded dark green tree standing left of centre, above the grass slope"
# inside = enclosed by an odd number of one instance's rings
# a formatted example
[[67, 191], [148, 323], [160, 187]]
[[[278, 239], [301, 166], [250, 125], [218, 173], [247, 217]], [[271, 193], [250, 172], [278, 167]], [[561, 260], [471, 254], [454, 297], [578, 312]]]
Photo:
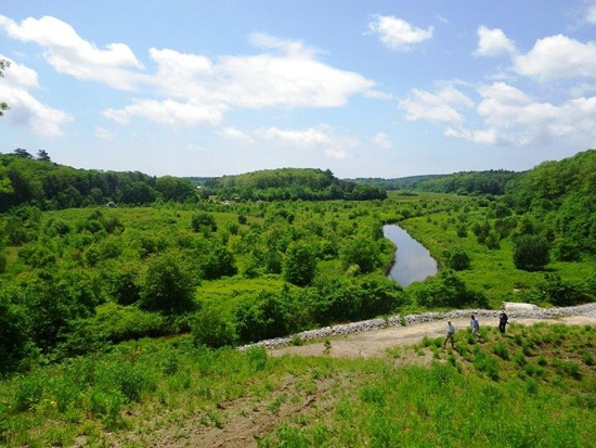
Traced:
[[165, 311], [191, 309], [194, 286], [191, 267], [178, 252], [153, 255], [141, 280], [141, 305]]

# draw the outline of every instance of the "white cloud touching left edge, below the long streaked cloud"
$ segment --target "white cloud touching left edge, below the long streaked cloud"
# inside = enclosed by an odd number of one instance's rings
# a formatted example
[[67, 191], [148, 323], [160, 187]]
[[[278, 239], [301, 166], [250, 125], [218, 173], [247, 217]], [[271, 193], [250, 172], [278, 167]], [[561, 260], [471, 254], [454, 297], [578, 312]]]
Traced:
[[74, 117], [64, 111], [43, 104], [29, 92], [30, 89], [39, 87], [36, 71], [2, 54], [0, 59], [11, 63], [4, 72], [4, 77], [0, 78], [0, 99], [11, 107], [3, 119], [27, 127], [41, 136], [62, 136], [61, 126], [72, 121]]

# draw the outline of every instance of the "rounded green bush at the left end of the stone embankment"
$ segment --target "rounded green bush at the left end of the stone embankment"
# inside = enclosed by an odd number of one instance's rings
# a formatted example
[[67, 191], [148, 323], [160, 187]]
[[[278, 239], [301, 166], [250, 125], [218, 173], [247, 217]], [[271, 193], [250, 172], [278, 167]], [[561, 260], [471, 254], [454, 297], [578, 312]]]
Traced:
[[212, 308], [198, 311], [192, 323], [193, 341], [195, 345], [206, 345], [211, 348], [234, 345], [237, 337], [234, 325]]

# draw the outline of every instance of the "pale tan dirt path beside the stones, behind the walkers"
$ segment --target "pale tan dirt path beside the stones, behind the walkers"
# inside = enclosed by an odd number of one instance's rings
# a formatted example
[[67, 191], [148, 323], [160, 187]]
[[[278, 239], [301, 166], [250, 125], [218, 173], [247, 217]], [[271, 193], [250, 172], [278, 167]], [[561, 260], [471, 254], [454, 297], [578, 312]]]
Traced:
[[[566, 324], [596, 324], [596, 316], [569, 316], [559, 319], [511, 319], [510, 323], [531, 325], [537, 322], [566, 323]], [[469, 319], [454, 319], [455, 328], [464, 330], [469, 325]], [[497, 327], [497, 319], [480, 320], [480, 325]], [[329, 338], [332, 348], [329, 356], [337, 358], [378, 357], [386, 350], [396, 346], [414, 345], [423, 337], [439, 337], [445, 334], [446, 320], [416, 323], [407, 327], [390, 327], [384, 330], [354, 333], [347, 336]], [[324, 354], [323, 342], [316, 342], [303, 346], [287, 346], [270, 350], [272, 356], [300, 355], [321, 356]]]

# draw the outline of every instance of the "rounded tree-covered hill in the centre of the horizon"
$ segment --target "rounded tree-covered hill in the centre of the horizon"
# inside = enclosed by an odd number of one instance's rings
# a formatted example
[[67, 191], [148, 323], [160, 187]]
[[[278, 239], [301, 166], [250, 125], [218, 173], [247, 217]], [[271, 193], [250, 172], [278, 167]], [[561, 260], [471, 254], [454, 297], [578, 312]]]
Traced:
[[[194, 178], [204, 179], [204, 178]], [[331, 170], [315, 168], [263, 169], [237, 176], [223, 176], [203, 183], [202, 194], [243, 200], [376, 200], [385, 190], [365, 183], [340, 180]]]

